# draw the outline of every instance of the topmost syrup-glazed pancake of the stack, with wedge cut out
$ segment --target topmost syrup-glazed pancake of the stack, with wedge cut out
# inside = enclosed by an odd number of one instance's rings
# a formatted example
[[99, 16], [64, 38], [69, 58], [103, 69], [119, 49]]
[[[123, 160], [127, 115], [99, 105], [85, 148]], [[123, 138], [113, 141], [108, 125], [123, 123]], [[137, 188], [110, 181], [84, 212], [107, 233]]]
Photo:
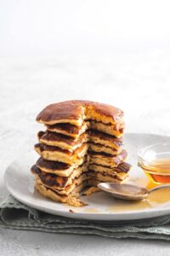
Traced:
[[116, 124], [122, 116], [122, 110], [111, 105], [88, 101], [67, 101], [44, 108], [37, 115], [37, 122], [45, 125], [70, 123], [81, 126], [84, 119], [93, 119], [105, 124]]

